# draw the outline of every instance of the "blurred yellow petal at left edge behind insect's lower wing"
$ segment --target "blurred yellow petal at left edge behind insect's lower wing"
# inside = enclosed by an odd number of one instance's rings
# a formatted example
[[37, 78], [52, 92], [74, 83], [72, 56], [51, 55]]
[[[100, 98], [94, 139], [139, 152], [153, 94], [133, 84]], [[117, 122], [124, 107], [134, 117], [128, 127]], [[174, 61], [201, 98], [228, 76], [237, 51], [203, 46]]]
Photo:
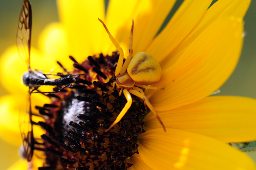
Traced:
[[[44, 98], [41, 94], [32, 94], [31, 95], [31, 108], [33, 113], [38, 113], [38, 110], [35, 110], [35, 106], [43, 106], [44, 102], [49, 102], [49, 99]], [[7, 141], [8, 143], [20, 146], [22, 144], [22, 138], [20, 135], [19, 128], [19, 115], [28, 114], [25, 109], [29, 105], [26, 101], [26, 96], [23, 95], [6, 95], [0, 98], [0, 137]], [[43, 118], [33, 116], [32, 120], [35, 122], [44, 121]], [[26, 122], [29, 119], [24, 120]], [[26, 123], [25, 123], [26, 124]], [[24, 124], [23, 124], [24, 125]], [[39, 138], [44, 131], [39, 127], [34, 125], [34, 137]]]

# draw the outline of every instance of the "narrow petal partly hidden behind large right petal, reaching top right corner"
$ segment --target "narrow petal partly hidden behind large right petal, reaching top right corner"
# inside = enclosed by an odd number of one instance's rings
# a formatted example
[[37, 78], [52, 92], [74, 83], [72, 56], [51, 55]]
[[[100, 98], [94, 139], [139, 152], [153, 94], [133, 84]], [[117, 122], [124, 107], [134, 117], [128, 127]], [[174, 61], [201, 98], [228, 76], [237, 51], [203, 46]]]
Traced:
[[192, 31], [181, 43], [161, 62], [162, 70], [173, 65], [178, 57], [184, 52], [188, 45], [198, 37], [206, 27], [216, 19], [229, 16], [244, 18], [251, 0], [218, 0], [202, 16]]

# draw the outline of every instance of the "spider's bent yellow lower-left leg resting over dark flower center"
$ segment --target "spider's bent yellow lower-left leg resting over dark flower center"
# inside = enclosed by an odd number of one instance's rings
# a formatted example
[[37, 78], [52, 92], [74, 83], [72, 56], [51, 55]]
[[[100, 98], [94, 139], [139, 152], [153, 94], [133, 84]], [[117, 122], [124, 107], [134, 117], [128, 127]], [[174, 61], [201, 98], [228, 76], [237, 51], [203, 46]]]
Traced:
[[125, 88], [123, 92], [124, 92], [125, 98], [127, 99], [127, 103], [125, 104], [123, 110], [118, 114], [116, 120], [112, 123], [112, 125], [109, 126], [109, 128], [105, 132], [108, 132], [109, 129], [111, 129], [114, 125], [116, 125], [121, 120], [121, 118], [124, 117], [125, 113], [132, 105], [132, 97], [129, 91]]

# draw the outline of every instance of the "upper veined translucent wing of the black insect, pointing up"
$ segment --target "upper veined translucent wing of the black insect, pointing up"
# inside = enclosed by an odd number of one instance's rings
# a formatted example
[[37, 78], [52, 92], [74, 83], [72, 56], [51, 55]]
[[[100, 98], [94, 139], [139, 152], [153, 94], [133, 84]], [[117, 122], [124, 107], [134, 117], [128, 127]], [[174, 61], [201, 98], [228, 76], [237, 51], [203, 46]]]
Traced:
[[32, 26], [32, 10], [28, 0], [23, 1], [22, 9], [19, 15], [19, 25], [16, 36], [16, 45], [19, 56], [25, 60], [30, 70], [30, 38]]

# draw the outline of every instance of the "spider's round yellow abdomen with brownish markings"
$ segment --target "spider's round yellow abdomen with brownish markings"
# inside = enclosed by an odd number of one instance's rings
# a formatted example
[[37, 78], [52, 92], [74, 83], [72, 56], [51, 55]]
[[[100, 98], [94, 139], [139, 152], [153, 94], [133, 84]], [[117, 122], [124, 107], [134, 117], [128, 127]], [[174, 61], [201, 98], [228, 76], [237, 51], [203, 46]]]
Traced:
[[162, 70], [151, 54], [140, 52], [131, 59], [127, 72], [136, 83], [150, 85], [160, 80]]

